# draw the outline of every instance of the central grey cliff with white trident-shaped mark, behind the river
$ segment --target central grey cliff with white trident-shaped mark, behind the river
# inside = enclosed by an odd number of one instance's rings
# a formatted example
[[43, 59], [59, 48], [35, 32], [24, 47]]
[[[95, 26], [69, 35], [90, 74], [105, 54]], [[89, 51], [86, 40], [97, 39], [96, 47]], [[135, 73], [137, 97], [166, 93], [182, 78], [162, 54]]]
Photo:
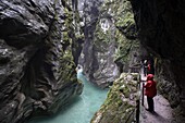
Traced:
[[127, 61], [139, 47], [131, 3], [119, 2], [86, 1], [84, 5], [85, 44], [79, 64], [89, 81], [100, 87], [108, 87], [128, 70]]

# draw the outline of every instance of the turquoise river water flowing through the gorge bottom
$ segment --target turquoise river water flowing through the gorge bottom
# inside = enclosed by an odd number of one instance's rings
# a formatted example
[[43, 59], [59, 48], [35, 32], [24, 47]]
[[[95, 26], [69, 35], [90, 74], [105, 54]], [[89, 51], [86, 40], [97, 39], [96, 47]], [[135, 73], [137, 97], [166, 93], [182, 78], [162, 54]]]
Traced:
[[59, 113], [52, 116], [33, 119], [27, 123], [90, 123], [95, 112], [103, 103], [108, 89], [97, 88], [79, 72], [77, 77], [84, 83], [81, 96], [72, 99]]

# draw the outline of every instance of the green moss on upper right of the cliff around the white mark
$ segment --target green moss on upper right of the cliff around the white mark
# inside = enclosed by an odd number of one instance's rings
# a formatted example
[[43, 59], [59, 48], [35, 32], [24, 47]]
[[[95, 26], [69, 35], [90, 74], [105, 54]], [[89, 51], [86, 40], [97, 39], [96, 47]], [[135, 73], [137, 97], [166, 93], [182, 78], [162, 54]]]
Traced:
[[[110, 24], [106, 32], [101, 28], [101, 20], [108, 20]], [[107, 0], [101, 8], [98, 23], [94, 39], [97, 49], [104, 51], [106, 49], [100, 46], [114, 41], [116, 44], [114, 61], [127, 64], [132, 52], [139, 48], [131, 2], [127, 0]]]

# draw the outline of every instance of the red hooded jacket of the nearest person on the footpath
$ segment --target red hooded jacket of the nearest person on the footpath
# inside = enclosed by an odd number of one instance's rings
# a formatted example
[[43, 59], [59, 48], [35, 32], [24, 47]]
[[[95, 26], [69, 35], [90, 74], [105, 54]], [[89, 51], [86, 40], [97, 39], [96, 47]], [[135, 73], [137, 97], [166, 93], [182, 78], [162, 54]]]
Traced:
[[156, 82], [153, 81], [153, 75], [148, 74], [147, 75], [147, 84], [144, 86], [145, 89], [145, 95], [148, 97], [155, 97], [157, 95], [157, 89], [156, 89]]

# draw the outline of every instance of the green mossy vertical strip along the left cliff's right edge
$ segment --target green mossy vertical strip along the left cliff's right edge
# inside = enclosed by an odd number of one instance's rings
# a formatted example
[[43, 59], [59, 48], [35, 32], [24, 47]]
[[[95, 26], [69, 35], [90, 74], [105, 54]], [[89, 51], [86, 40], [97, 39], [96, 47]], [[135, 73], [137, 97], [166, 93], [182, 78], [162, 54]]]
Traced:
[[[63, 1], [65, 2], [65, 1]], [[79, 14], [78, 12], [73, 12], [70, 5], [65, 2], [64, 3], [64, 21], [63, 27], [61, 28], [62, 32], [62, 51], [63, 56], [60, 58], [61, 62], [61, 76], [59, 79], [62, 82], [77, 82], [76, 72], [75, 72], [75, 54], [76, 50], [79, 49], [79, 44], [77, 42], [78, 39], [83, 40], [84, 35], [76, 33], [76, 27], [79, 23]], [[74, 25], [73, 22], [76, 22]], [[81, 82], [79, 82], [81, 83]]]

